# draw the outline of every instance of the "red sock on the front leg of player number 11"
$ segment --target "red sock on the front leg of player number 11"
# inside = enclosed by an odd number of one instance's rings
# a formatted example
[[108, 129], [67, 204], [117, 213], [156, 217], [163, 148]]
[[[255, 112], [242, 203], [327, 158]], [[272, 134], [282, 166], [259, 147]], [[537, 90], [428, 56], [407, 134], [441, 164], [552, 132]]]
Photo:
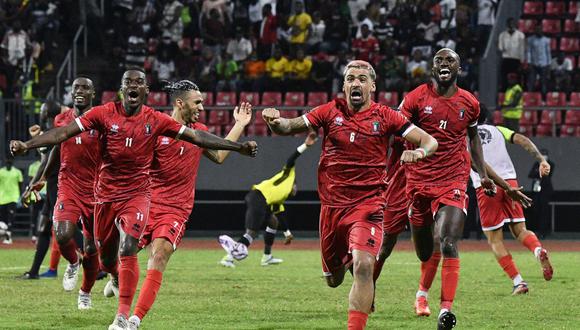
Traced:
[[131, 303], [139, 283], [137, 256], [121, 256], [119, 263], [119, 309], [117, 314], [129, 317]]

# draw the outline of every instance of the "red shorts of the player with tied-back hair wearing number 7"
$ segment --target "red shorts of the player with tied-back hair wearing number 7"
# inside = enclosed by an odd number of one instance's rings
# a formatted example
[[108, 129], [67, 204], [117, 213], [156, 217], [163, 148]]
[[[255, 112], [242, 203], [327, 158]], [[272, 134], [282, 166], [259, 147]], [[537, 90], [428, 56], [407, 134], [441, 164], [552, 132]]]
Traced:
[[151, 209], [149, 222], [139, 240], [139, 248], [143, 249], [157, 238], [165, 238], [173, 245], [173, 250], [176, 250], [185, 233], [187, 220], [182, 215]]

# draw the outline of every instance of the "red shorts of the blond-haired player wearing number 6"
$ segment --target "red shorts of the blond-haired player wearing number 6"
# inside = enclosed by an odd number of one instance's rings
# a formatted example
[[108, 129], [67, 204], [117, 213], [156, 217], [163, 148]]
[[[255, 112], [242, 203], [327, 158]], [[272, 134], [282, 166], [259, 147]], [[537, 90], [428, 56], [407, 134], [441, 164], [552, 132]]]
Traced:
[[352, 207], [321, 206], [322, 270], [330, 276], [351, 262], [352, 250], [376, 256], [383, 243], [384, 198], [371, 197]]

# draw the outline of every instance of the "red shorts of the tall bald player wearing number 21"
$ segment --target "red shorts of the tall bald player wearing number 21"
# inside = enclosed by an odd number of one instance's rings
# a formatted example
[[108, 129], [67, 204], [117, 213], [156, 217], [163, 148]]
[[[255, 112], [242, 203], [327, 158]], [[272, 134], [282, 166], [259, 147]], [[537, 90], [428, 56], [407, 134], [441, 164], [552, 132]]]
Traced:
[[407, 186], [407, 195], [411, 201], [409, 222], [415, 227], [430, 226], [441, 205], [454, 206], [467, 214], [469, 197], [466, 190], [466, 182]]

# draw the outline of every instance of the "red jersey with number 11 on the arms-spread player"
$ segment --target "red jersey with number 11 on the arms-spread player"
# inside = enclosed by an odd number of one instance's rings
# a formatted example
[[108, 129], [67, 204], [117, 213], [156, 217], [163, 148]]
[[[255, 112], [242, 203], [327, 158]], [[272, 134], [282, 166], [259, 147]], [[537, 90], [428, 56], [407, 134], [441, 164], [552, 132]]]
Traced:
[[121, 102], [92, 108], [75, 119], [81, 131], [101, 134], [102, 163], [95, 186], [98, 202], [150, 196], [149, 170], [160, 135], [179, 137], [185, 126], [166, 114], [143, 105], [128, 116]]

